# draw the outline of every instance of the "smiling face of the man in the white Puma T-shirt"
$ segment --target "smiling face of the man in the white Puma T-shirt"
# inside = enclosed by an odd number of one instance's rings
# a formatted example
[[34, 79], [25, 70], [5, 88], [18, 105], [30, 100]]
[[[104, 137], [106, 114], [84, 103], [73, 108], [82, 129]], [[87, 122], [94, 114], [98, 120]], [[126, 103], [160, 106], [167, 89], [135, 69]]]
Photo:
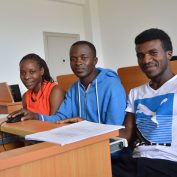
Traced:
[[165, 51], [160, 40], [151, 40], [136, 46], [138, 64], [150, 79], [162, 75], [169, 66], [172, 51]]

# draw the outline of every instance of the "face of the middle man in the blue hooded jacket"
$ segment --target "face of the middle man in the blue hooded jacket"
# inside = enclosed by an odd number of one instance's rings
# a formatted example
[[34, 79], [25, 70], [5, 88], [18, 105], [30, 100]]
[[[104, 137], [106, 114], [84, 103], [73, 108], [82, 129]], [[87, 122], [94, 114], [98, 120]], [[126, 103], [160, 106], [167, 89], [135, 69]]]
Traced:
[[88, 78], [95, 73], [97, 58], [86, 44], [75, 45], [70, 49], [70, 66], [80, 79]]

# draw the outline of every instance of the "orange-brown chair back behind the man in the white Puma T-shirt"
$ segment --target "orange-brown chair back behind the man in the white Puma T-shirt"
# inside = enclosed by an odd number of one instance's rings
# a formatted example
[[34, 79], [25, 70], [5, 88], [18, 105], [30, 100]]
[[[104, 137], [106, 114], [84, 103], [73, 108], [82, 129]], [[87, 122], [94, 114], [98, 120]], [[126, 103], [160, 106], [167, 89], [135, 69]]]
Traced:
[[[172, 71], [177, 74], [177, 60], [170, 62]], [[139, 66], [122, 67], [117, 69], [117, 73], [128, 95], [130, 89], [145, 84], [149, 81]]]

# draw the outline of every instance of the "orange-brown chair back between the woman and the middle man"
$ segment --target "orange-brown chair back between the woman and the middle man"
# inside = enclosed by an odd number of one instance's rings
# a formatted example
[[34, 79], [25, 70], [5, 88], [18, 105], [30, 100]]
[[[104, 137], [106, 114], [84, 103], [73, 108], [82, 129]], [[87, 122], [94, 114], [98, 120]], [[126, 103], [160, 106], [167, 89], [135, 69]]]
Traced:
[[78, 80], [78, 77], [75, 74], [65, 74], [57, 76], [58, 84], [66, 92], [76, 80]]

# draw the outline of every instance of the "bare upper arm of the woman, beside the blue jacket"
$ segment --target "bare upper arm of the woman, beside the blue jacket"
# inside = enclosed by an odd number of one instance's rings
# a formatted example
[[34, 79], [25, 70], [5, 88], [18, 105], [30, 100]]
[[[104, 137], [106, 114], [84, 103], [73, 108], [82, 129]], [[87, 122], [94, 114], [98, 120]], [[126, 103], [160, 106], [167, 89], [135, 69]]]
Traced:
[[65, 91], [59, 86], [56, 85], [53, 87], [49, 102], [50, 102], [50, 115], [53, 115], [57, 112], [65, 96]]

